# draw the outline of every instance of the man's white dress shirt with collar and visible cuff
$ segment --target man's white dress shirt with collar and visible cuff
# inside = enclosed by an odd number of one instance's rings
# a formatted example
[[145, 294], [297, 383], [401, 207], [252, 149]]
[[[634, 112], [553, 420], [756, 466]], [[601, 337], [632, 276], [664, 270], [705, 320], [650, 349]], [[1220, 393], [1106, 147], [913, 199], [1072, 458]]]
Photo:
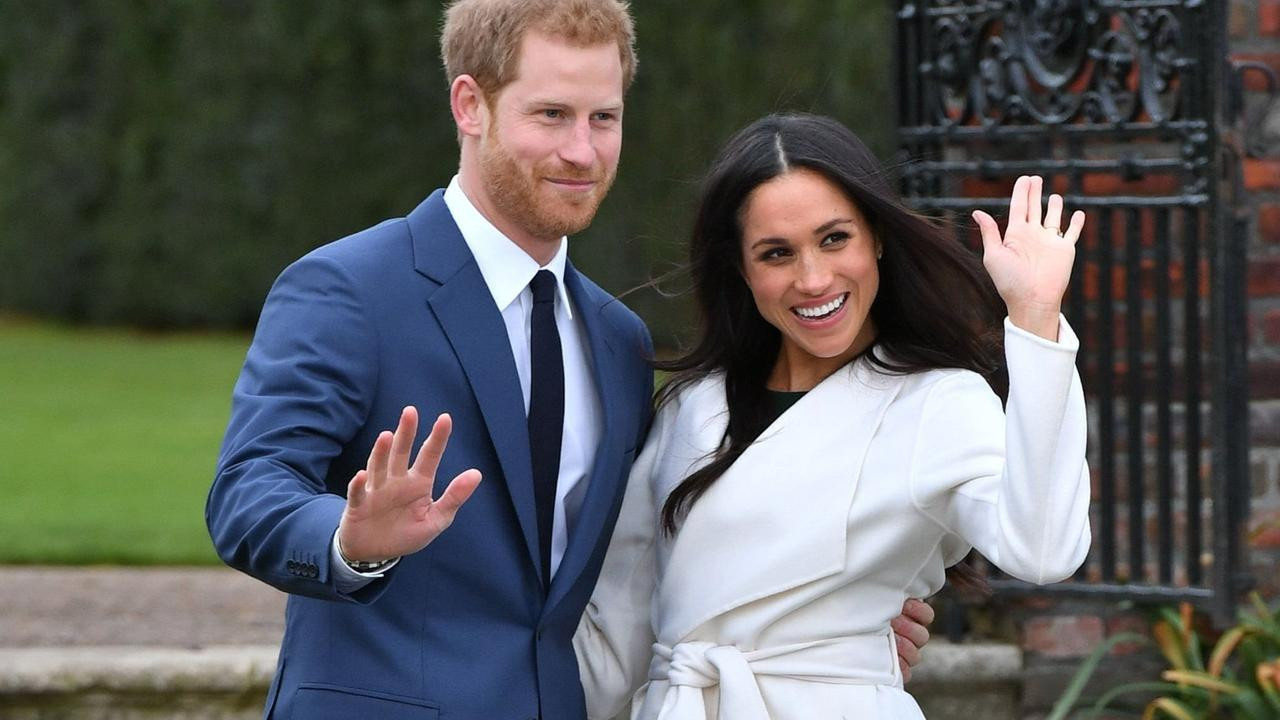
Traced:
[[[529, 341], [534, 295], [529, 283], [538, 270], [550, 270], [556, 275], [556, 328], [559, 331], [564, 360], [564, 429], [561, 436], [561, 464], [552, 525], [550, 574], [554, 575], [564, 557], [577, 511], [582, 506], [586, 477], [595, 461], [595, 450], [603, 430], [586, 331], [575, 316], [573, 304], [564, 287], [568, 240], [561, 238], [556, 256], [545, 266], [540, 266], [476, 210], [462, 191], [457, 176], [444, 191], [444, 204], [462, 232], [462, 240], [471, 250], [485, 286], [493, 295], [494, 305], [502, 314], [502, 322], [507, 325], [507, 340], [511, 342], [511, 355], [516, 360], [516, 373], [520, 375], [525, 413], [529, 413], [529, 387], [532, 377]], [[356, 573], [343, 562], [338, 553], [337, 533], [330, 555], [334, 582], [342, 592], [355, 592], [374, 578], [381, 577], [381, 573]]]

